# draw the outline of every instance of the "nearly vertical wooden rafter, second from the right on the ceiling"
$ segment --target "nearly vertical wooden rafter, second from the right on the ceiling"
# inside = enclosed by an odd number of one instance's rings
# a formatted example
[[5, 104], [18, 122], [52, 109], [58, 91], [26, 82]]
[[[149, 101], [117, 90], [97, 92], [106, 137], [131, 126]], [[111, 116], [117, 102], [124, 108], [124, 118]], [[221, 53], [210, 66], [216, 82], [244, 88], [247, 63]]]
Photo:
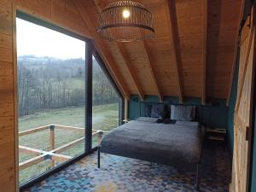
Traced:
[[203, 0], [203, 44], [202, 44], [202, 67], [201, 67], [201, 103], [207, 102], [207, 20], [208, 20], [208, 0]]

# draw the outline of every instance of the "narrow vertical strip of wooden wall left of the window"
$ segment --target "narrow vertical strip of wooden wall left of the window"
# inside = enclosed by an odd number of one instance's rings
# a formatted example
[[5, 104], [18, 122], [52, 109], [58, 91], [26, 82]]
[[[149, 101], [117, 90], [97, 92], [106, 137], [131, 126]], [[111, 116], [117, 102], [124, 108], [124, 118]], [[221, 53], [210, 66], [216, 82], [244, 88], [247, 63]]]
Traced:
[[14, 13], [0, 1], [0, 189], [15, 191]]

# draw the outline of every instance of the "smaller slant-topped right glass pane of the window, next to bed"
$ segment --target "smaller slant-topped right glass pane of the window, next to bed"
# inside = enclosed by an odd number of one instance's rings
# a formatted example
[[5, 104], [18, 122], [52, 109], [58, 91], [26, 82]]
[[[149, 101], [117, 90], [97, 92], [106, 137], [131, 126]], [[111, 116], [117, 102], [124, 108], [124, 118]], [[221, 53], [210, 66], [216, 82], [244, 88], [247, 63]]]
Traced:
[[95, 57], [93, 57], [92, 96], [92, 147], [96, 147], [102, 132], [106, 134], [119, 126], [120, 98]]

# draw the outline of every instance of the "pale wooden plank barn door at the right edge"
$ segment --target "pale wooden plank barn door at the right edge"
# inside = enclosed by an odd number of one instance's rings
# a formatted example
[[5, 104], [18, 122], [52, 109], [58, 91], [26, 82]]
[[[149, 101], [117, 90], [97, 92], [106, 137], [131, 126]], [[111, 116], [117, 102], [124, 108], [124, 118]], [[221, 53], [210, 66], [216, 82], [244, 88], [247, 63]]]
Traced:
[[234, 152], [230, 191], [247, 192], [253, 119], [255, 9], [241, 31], [241, 50], [234, 118]]

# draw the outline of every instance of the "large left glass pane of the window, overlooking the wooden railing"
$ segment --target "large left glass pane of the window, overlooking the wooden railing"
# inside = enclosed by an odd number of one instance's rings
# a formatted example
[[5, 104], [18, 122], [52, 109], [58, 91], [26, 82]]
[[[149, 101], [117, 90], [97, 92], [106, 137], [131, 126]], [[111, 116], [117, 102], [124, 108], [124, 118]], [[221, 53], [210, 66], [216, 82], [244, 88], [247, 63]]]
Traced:
[[85, 43], [17, 19], [20, 183], [84, 153]]

